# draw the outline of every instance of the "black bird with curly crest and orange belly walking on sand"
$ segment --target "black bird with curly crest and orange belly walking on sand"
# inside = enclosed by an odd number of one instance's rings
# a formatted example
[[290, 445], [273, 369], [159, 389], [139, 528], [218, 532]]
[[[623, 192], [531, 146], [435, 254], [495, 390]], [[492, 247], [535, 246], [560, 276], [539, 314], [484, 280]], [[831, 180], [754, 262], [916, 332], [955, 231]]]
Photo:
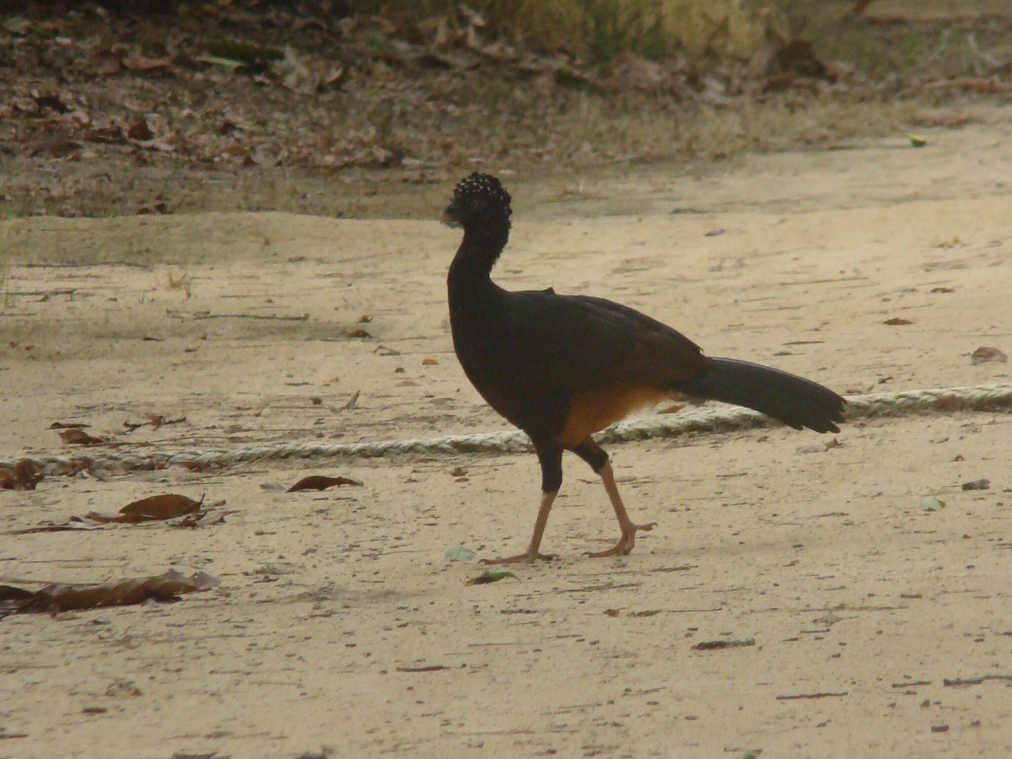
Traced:
[[839, 432], [844, 399], [809, 380], [757, 363], [705, 355], [680, 332], [626, 306], [553, 288], [508, 290], [492, 279], [506, 247], [512, 198], [498, 178], [474, 172], [453, 189], [440, 221], [462, 228], [446, 275], [453, 349], [485, 401], [527, 433], [541, 470], [541, 500], [527, 550], [484, 564], [535, 562], [563, 483], [563, 451], [601, 478], [624, 556], [640, 531], [615, 485], [608, 454], [592, 438], [628, 414], [670, 398], [745, 406], [794, 429]]

